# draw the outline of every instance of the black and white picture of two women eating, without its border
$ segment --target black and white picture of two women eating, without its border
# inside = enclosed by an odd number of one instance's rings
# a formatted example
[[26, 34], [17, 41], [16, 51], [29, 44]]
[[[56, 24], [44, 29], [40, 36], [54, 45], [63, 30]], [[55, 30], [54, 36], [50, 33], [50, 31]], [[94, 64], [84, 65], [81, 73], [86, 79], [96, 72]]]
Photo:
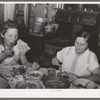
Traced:
[[0, 3], [0, 89], [100, 89], [100, 3]]

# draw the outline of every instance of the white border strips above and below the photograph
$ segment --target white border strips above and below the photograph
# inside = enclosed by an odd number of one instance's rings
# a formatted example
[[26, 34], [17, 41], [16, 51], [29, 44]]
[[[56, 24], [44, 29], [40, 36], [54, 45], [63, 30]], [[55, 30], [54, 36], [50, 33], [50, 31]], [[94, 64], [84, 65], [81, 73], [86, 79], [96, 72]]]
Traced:
[[[0, 2], [4, 3], [100, 4], [100, 2]], [[0, 89], [0, 98], [100, 98], [100, 89]]]

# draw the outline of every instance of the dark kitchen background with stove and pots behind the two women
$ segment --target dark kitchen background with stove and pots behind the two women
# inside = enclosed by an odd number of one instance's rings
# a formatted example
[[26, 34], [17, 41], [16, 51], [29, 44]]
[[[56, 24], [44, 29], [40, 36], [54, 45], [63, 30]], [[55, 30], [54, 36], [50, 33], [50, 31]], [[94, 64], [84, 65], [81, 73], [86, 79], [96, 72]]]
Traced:
[[[100, 4], [0, 4], [0, 31], [8, 20], [18, 25], [18, 38], [30, 47], [25, 54], [26, 59], [30, 63], [38, 62], [43, 72], [48, 68], [51, 72], [59, 70], [60, 67], [52, 64], [52, 59], [63, 48], [74, 46], [77, 33], [81, 30], [90, 32], [89, 49], [96, 54], [100, 64]], [[44, 82], [46, 80], [48, 77]], [[68, 80], [64, 82], [68, 83]], [[38, 85], [38, 88], [41, 87]]]

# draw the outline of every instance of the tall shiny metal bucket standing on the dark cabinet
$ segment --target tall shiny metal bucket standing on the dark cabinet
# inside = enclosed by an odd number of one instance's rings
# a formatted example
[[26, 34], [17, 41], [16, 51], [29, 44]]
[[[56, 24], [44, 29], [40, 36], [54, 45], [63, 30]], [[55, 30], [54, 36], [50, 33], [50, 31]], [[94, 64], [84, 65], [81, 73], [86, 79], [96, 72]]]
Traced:
[[46, 20], [37, 17], [33, 23], [33, 32], [40, 33], [46, 24]]

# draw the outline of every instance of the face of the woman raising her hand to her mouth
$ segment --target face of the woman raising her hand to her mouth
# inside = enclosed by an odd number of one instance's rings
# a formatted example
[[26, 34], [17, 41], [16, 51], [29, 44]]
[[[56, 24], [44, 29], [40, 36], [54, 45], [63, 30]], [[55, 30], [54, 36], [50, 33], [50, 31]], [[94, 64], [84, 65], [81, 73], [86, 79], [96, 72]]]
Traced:
[[4, 44], [7, 46], [14, 46], [18, 39], [18, 30], [16, 28], [9, 28], [4, 34]]

